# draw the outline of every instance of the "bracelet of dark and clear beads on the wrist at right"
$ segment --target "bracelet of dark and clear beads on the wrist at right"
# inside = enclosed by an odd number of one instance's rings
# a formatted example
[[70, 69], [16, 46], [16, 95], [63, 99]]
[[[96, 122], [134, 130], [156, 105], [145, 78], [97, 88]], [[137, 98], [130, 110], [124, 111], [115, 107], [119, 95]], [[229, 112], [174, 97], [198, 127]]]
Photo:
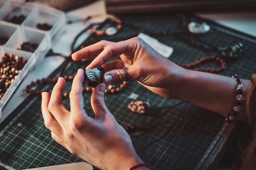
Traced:
[[230, 121], [234, 121], [236, 119], [236, 115], [238, 114], [238, 110], [240, 109], [240, 104], [241, 104], [241, 100], [242, 100], [242, 94], [243, 94], [243, 85], [240, 82], [240, 79], [238, 79], [237, 75], [232, 76], [234, 78], [236, 78], [236, 94], [235, 94], [235, 101], [233, 104], [233, 107], [231, 109], [231, 112], [227, 115], [227, 117], [225, 118], [225, 121], [230, 122]]

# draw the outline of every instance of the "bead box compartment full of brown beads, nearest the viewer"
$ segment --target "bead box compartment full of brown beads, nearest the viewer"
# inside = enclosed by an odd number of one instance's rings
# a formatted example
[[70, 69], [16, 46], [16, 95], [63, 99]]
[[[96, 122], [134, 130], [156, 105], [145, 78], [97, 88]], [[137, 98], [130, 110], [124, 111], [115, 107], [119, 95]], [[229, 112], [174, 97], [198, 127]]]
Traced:
[[[7, 47], [0, 47], [0, 56], [0, 110], [2, 110], [22, 79], [36, 65], [36, 58], [33, 53]], [[23, 66], [22, 63], [25, 65]]]

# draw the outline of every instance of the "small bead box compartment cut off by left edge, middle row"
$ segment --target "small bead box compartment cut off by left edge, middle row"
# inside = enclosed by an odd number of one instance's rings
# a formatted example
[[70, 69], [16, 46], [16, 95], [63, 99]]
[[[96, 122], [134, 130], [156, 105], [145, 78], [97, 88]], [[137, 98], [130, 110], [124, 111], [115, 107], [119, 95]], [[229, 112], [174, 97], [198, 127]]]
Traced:
[[18, 26], [0, 22], [0, 46], [8, 42], [11, 36], [17, 31]]

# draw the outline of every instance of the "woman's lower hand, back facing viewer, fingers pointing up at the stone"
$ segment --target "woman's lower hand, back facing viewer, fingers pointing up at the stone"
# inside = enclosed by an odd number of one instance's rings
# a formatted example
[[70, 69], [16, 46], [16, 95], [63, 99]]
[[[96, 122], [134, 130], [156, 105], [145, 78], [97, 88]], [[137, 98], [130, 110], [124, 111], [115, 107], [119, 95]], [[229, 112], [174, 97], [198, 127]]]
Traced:
[[104, 102], [105, 85], [99, 84], [92, 92], [91, 105], [95, 118], [88, 117], [84, 108], [82, 82], [84, 72], [79, 69], [70, 91], [70, 111], [61, 104], [65, 79], [60, 77], [52, 95], [42, 93], [42, 113], [45, 126], [52, 138], [102, 170], [128, 169], [142, 162], [131, 139]]

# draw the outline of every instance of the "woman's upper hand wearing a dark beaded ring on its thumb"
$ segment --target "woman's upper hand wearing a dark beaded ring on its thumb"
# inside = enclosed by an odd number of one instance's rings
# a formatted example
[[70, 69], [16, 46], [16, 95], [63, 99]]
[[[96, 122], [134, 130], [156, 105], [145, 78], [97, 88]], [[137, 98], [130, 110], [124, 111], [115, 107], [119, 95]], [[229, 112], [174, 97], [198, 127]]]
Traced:
[[[117, 60], [108, 62], [111, 57]], [[125, 66], [128, 79], [137, 80], [154, 93], [167, 98], [177, 98], [177, 89], [180, 89], [176, 88], [177, 81], [186, 72], [138, 37], [117, 43], [101, 41], [72, 54], [75, 61], [93, 58], [86, 69], [103, 66], [106, 70], [105, 84], [124, 81], [122, 68]]]

